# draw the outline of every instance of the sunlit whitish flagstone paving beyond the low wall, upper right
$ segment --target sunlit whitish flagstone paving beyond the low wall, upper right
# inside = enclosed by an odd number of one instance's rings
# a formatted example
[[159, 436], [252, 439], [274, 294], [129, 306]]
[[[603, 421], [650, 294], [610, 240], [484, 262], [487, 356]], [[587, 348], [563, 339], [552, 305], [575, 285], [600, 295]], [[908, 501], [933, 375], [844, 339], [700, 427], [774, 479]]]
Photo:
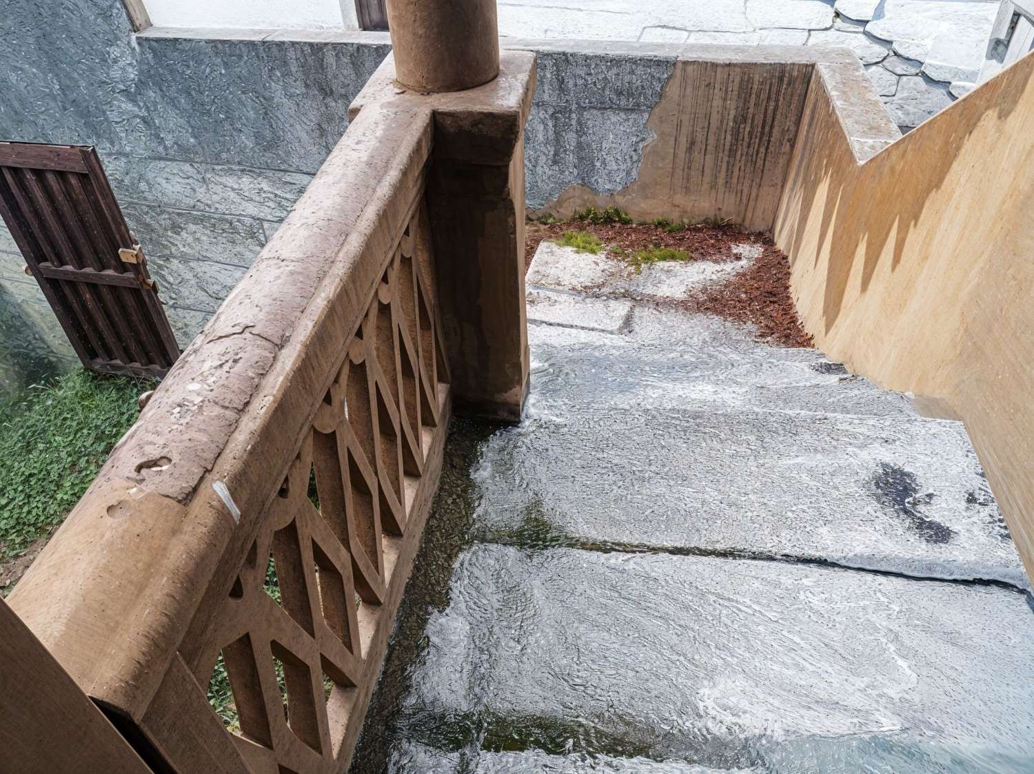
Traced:
[[853, 50], [903, 128], [969, 92], [997, 0], [500, 0], [499, 33]]

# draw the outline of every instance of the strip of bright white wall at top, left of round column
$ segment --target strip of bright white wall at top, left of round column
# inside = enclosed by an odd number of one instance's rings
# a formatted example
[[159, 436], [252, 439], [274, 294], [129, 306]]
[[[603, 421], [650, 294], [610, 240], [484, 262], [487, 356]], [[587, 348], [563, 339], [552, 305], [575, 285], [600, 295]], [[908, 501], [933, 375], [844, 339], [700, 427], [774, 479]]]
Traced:
[[357, 29], [354, 0], [145, 0], [157, 27]]

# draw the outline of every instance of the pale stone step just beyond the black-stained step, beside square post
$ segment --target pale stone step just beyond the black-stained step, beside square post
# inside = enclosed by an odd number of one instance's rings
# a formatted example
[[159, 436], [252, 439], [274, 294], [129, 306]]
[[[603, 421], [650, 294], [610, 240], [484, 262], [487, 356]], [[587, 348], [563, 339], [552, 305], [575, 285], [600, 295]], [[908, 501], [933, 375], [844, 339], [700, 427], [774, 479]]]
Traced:
[[760, 344], [742, 327], [678, 310], [637, 305], [629, 319], [620, 334], [529, 326], [529, 415], [647, 406], [916, 416], [905, 396], [815, 349]]

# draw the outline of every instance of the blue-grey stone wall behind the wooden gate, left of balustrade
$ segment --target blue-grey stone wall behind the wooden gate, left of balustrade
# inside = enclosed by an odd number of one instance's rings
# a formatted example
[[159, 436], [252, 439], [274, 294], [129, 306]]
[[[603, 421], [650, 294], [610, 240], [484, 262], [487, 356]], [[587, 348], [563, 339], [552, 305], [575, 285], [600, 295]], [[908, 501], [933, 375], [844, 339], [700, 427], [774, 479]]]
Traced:
[[[347, 126], [387, 43], [131, 33], [120, 0], [0, 8], [0, 140], [97, 147], [182, 345]], [[0, 392], [75, 363], [0, 226]]]

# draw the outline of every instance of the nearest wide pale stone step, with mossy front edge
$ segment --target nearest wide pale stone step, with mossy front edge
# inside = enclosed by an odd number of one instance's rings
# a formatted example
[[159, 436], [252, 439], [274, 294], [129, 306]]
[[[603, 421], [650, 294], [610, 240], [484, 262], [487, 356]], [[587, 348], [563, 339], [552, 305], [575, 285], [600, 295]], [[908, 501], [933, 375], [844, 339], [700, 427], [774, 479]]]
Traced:
[[393, 739], [440, 752], [394, 771], [1034, 770], [1034, 615], [998, 587], [475, 544], [425, 633]]

